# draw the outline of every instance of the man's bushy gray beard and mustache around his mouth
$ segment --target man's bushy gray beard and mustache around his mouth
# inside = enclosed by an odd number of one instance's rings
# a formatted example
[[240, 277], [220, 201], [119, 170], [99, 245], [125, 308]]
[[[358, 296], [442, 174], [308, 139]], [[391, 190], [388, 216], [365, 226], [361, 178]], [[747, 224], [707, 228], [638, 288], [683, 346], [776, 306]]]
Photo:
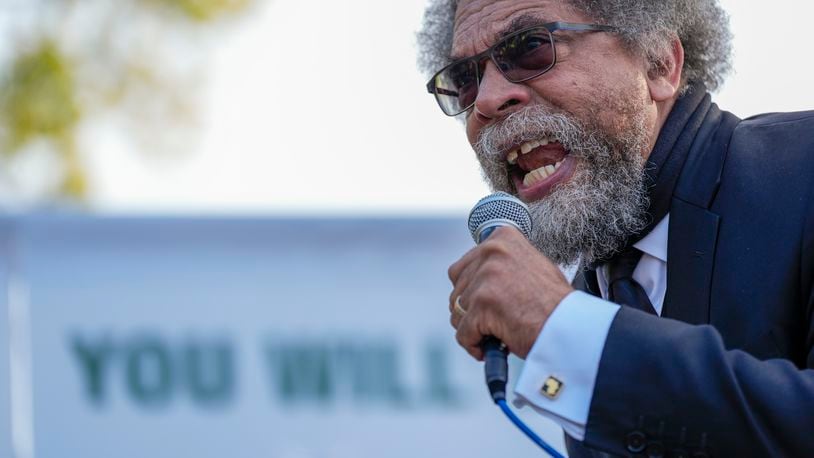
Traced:
[[648, 222], [644, 119], [634, 117], [624, 132], [610, 134], [540, 106], [513, 113], [484, 128], [474, 146], [484, 178], [495, 191], [516, 194], [503, 152], [546, 135], [556, 138], [577, 166], [570, 180], [529, 204], [531, 243], [561, 266], [607, 259]]

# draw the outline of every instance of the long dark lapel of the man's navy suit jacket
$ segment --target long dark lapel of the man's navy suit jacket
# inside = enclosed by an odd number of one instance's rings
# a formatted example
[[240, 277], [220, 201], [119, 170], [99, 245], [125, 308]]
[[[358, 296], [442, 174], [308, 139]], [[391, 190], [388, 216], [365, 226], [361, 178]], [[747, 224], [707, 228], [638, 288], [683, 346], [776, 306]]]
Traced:
[[662, 316], [709, 323], [719, 215], [710, 211], [732, 132], [740, 120], [713, 106], [693, 143], [670, 206], [667, 293]]

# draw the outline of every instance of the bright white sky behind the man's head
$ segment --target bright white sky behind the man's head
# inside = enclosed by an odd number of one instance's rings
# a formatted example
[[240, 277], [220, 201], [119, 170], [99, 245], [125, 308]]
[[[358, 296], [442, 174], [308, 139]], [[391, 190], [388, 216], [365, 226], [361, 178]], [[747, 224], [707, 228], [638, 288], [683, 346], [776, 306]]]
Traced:
[[[424, 0], [266, 0], [225, 33], [200, 137], [171, 159], [113, 129], [86, 159], [102, 213], [460, 215], [489, 192], [463, 127], [415, 66]], [[735, 69], [713, 100], [741, 117], [814, 109], [814, 5], [723, 0]]]

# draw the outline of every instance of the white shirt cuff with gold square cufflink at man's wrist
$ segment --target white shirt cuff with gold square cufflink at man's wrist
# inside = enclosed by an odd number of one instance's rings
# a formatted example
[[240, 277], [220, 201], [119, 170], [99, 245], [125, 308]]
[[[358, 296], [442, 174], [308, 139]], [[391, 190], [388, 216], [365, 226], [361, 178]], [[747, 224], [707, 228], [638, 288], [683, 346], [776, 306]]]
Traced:
[[[531, 348], [515, 385], [515, 407], [530, 405], [568, 435], [585, 440], [599, 361], [619, 306], [581, 291], [560, 302]], [[542, 391], [549, 378], [562, 383], [551, 399]]]

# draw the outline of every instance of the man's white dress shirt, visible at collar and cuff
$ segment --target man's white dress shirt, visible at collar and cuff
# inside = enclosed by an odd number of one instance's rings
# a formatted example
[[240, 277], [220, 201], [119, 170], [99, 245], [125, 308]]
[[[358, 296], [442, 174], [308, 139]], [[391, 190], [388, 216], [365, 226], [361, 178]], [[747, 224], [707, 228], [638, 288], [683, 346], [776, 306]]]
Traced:
[[[667, 215], [634, 245], [643, 254], [633, 271], [633, 279], [642, 285], [659, 315], [667, 291], [669, 225], [670, 215]], [[597, 269], [597, 281], [602, 297], [607, 298], [605, 266]], [[599, 361], [618, 311], [618, 305], [582, 291], [566, 296], [548, 318], [526, 357], [515, 385], [514, 405], [531, 406], [556, 421], [569, 436], [584, 440]], [[541, 391], [549, 377], [562, 382], [560, 393], [554, 399]]]

